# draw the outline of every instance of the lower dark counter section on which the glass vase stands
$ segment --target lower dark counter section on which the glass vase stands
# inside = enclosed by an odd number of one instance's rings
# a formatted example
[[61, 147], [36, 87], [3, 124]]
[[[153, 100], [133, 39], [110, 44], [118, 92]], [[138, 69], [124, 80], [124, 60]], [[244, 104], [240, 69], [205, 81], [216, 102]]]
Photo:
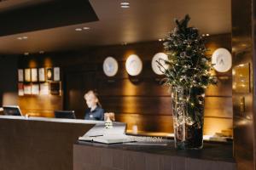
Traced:
[[204, 144], [203, 150], [168, 145], [73, 145], [73, 170], [236, 170], [231, 144]]

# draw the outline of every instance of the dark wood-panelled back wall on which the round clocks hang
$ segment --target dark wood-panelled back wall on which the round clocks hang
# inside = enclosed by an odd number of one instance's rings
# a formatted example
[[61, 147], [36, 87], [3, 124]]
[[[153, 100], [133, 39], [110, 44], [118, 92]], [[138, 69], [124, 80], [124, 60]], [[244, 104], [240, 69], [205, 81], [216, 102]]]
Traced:
[[[207, 38], [209, 55], [216, 48], [231, 49], [230, 34]], [[79, 118], [84, 118], [84, 93], [96, 89], [103, 109], [113, 111], [116, 121], [127, 122], [128, 130], [137, 124], [139, 131], [172, 133], [171, 95], [168, 87], [160, 85], [163, 77], [154, 74], [151, 68], [154, 54], [163, 51], [162, 42], [140, 42], [47, 56], [52, 65], [62, 68], [63, 109], [74, 110]], [[137, 77], [130, 77], [125, 71], [125, 60], [130, 54], [137, 54], [143, 60], [143, 71]], [[106, 77], [102, 71], [102, 63], [108, 56], [119, 62], [115, 77]], [[38, 62], [44, 62], [45, 58], [44, 55], [38, 57]], [[29, 63], [29, 59], [20, 60], [21, 65]], [[213, 74], [219, 77], [219, 82], [206, 92], [205, 133], [232, 128], [231, 71]]]

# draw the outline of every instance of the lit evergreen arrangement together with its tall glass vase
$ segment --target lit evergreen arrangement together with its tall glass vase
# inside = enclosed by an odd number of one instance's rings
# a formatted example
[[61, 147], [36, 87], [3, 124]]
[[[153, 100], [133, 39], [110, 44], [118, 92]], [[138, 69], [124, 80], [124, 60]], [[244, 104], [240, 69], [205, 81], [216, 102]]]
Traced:
[[205, 37], [195, 27], [188, 26], [189, 20], [189, 15], [175, 20], [176, 27], [164, 42], [168, 59], [156, 61], [166, 75], [163, 81], [172, 88], [177, 149], [202, 148], [205, 88], [217, 82], [210, 73], [212, 64], [206, 55]]

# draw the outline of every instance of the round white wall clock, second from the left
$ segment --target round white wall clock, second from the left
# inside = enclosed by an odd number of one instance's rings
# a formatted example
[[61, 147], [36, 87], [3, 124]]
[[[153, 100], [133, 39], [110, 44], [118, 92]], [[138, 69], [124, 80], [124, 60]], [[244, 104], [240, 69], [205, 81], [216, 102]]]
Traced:
[[125, 62], [125, 68], [130, 76], [137, 76], [143, 71], [143, 62], [136, 54], [131, 54]]

